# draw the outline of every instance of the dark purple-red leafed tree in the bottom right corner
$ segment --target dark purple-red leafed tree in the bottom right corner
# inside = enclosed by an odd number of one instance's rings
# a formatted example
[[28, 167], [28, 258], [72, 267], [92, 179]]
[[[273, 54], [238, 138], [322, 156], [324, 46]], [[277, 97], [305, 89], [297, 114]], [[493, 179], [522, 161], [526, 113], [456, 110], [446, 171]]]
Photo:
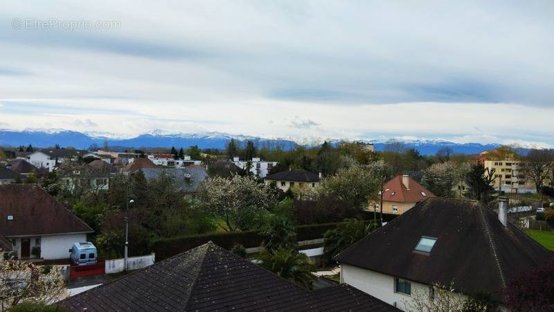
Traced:
[[510, 279], [504, 295], [511, 311], [554, 311], [554, 257]]

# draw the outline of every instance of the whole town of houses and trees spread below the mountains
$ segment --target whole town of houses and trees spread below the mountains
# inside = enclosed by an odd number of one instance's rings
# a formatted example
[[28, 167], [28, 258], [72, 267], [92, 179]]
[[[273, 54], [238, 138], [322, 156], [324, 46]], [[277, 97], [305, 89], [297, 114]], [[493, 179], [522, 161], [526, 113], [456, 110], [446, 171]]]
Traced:
[[1, 311], [548, 311], [553, 250], [554, 150], [0, 148]]

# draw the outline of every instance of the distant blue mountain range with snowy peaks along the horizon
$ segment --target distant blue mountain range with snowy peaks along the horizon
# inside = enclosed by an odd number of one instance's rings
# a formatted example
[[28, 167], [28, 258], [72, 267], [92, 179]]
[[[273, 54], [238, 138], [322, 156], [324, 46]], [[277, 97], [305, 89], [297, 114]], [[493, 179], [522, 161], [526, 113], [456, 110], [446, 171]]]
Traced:
[[[259, 147], [276, 148], [280, 146], [290, 150], [297, 146], [316, 146], [323, 142], [323, 139], [312, 139], [310, 141], [295, 141], [293, 139], [265, 139], [261, 137], [249, 137], [246, 135], [229, 135], [222, 132], [202, 133], [178, 133], [171, 134], [154, 130], [143, 135], [132, 138], [120, 138], [113, 135], [91, 134], [71, 130], [0, 130], [0, 146], [28, 146], [35, 147], [72, 146], [73, 148], [87, 149], [91, 146], [104, 146], [108, 144], [111, 148], [187, 148], [196, 145], [199, 148], [225, 148], [231, 139], [244, 143], [252, 140]], [[330, 140], [332, 144], [338, 144], [340, 140]], [[395, 140], [398, 141], [398, 140]], [[373, 143], [375, 150], [383, 150], [389, 141], [367, 141]], [[444, 140], [411, 140], [400, 141], [406, 148], [415, 148], [422, 155], [434, 155], [440, 148], [448, 147], [454, 153], [476, 154], [483, 150], [497, 148], [500, 144], [479, 144], [466, 143], [457, 144]]]

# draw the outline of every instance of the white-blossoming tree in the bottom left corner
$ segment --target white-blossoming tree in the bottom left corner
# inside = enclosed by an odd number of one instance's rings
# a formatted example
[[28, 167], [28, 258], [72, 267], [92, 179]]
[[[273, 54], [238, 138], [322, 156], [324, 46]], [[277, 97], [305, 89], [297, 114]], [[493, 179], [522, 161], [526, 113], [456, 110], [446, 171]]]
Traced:
[[33, 263], [0, 257], [0, 311], [22, 302], [51, 304], [63, 292], [64, 278], [57, 267], [46, 272]]

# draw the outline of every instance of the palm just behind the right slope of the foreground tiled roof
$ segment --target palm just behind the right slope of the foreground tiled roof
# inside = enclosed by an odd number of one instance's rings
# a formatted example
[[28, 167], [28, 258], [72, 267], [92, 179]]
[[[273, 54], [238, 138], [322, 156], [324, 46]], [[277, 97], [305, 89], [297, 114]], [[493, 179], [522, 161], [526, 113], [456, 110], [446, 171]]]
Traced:
[[316, 280], [316, 277], [312, 275], [315, 267], [310, 263], [306, 254], [292, 249], [263, 249], [255, 260], [260, 266], [305, 289], [312, 289], [312, 284]]

